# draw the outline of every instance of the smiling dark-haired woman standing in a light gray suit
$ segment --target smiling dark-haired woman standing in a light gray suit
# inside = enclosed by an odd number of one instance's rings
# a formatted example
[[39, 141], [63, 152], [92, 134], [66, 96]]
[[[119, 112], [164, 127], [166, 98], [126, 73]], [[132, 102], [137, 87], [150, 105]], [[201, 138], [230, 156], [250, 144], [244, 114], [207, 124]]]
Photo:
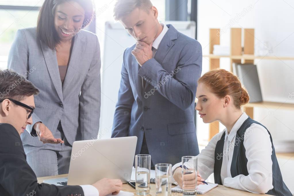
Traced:
[[40, 90], [21, 136], [37, 177], [68, 173], [73, 142], [98, 135], [100, 47], [82, 30], [92, 16], [91, 0], [45, 0], [37, 27], [17, 31], [11, 47], [8, 67]]

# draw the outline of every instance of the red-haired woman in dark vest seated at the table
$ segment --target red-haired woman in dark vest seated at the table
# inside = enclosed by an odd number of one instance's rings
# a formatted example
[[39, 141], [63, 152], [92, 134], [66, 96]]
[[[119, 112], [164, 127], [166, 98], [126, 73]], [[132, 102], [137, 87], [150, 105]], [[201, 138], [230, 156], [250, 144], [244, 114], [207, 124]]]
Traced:
[[[219, 121], [226, 127], [197, 156], [197, 184], [214, 173], [215, 183], [220, 185], [292, 196], [283, 182], [270, 132], [241, 110], [249, 96], [238, 77], [223, 69], [207, 72], [198, 80], [196, 97], [195, 109], [203, 122]], [[173, 166], [173, 172], [181, 187], [195, 187], [196, 174], [182, 177], [181, 163]]]

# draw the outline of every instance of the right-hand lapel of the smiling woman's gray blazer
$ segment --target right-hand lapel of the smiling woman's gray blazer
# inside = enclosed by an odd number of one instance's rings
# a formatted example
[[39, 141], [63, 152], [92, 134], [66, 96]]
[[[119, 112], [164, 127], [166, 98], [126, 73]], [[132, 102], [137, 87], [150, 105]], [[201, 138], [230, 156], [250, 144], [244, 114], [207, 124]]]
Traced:
[[[74, 37], [74, 45], [71, 51], [71, 57], [69, 59], [69, 66], [66, 71], [66, 76], [64, 78], [62, 92], [65, 93], [66, 89], [71, 88], [73, 84], [71, 82], [74, 78], [78, 77], [81, 74], [81, 69], [83, 67], [80, 66], [81, 54], [85, 51], [86, 43], [81, 34], [77, 34]], [[98, 58], [98, 56], [97, 56]]]

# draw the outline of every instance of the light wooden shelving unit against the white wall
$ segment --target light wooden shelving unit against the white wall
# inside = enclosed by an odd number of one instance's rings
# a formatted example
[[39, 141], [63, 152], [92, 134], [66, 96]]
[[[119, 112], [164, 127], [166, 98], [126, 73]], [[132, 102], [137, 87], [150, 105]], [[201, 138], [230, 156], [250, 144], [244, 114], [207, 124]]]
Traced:
[[[230, 71], [233, 71], [233, 63], [254, 63], [255, 59], [266, 60], [294, 60], [294, 57], [278, 57], [278, 56], [255, 56], [254, 55], [254, 29], [243, 29], [244, 43], [242, 53], [242, 29], [231, 28], [230, 33], [230, 55], [213, 55], [213, 46], [220, 44], [220, 37], [217, 36], [220, 29], [211, 28], [209, 32], [209, 55], [203, 55], [203, 58], [209, 60], [209, 70], [220, 67], [220, 58], [230, 58]], [[294, 110], [294, 104], [278, 103], [278, 102], [259, 102], [248, 103], [243, 109], [250, 118], [253, 118], [253, 108], [264, 107], [267, 109], [287, 109]], [[209, 140], [219, 132], [219, 122], [209, 124]]]

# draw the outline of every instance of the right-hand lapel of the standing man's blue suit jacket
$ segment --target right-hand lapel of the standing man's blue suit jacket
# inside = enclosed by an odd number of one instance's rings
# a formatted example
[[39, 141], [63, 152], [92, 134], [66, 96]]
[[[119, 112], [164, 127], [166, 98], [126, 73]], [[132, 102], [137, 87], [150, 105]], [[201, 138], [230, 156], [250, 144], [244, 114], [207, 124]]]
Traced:
[[[178, 37], [177, 30], [171, 24], [168, 24], [167, 27], [168, 27], [168, 31], [163, 36], [163, 38], [162, 38], [162, 40], [161, 40], [161, 42], [160, 42], [160, 44], [158, 46], [158, 50], [157, 50], [157, 52], [156, 52], [156, 54], [154, 56], [154, 59], [159, 64], [162, 64], [163, 59], [166, 57], [166, 55], [168, 54], [169, 50], [171, 50], [171, 48], [175, 44], [173, 42], [173, 40], [176, 40], [177, 37]], [[144, 91], [148, 87], [148, 85], [150, 85], [150, 84], [148, 82], [146, 82], [146, 85], [144, 87]]]

